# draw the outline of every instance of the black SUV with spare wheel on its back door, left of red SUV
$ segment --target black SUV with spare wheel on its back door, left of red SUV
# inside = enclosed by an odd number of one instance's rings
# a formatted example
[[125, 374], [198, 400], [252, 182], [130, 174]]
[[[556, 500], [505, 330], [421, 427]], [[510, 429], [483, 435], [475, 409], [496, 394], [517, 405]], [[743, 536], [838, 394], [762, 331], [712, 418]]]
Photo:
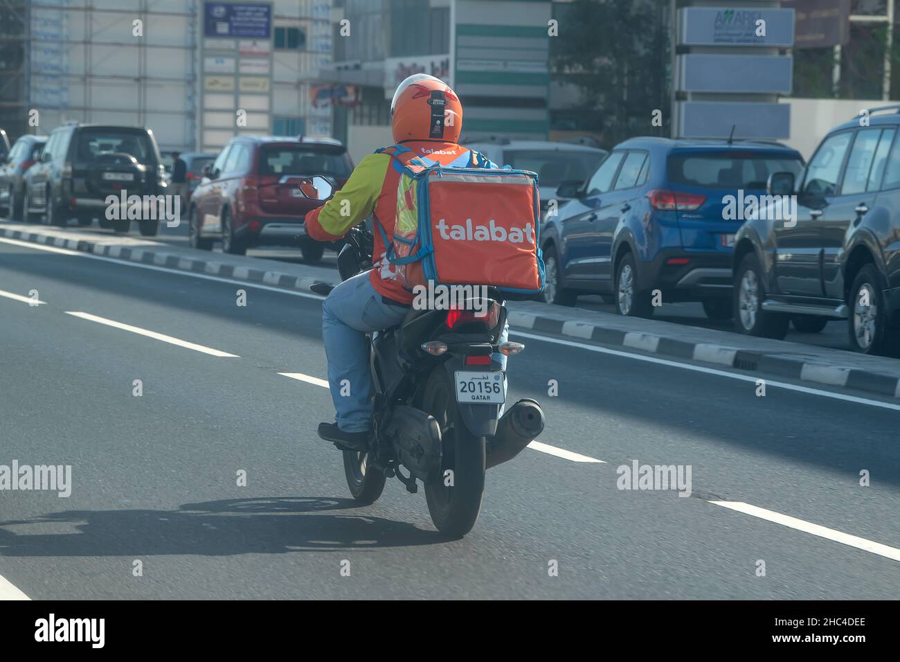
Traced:
[[[64, 227], [75, 217], [79, 225], [127, 232], [129, 220], [109, 220], [109, 195], [141, 196], [140, 233], [154, 236], [159, 219], [146, 213], [145, 196], [165, 195], [165, 169], [153, 131], [130, 126], [70, 123], [54, 129], [40, 161], [24, 177], [24, 216], [40, 214], [43, 222]], [[156, 216], [154, 213], [152, 216]]]

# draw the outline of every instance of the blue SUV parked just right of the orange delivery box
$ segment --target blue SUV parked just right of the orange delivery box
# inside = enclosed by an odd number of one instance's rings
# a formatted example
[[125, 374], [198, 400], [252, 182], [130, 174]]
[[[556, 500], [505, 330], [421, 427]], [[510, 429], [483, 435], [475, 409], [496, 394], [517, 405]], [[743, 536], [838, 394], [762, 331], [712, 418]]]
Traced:
[[541, 231], [544, 299], [574, 304], [577, 295], [615, 299], [623, 315], [662, 304], [702, 302], [712, 319], [732, 314], [734, 234], [728, 195], [764, 194], [771, 173], [799, 172], [803, 158], [777, 142], [632, 138], [582, 186], [560, 186], [573, 199]]

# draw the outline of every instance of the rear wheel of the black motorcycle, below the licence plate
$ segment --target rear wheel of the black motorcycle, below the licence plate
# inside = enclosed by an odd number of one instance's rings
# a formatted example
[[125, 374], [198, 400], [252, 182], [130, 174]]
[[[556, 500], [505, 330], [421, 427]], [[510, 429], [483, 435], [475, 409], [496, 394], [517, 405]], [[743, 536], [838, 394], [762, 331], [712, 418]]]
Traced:
[[425, 484], [428, 512], [437, 531], [462, 538], [482, 510], [486, 441], [465, 427], [445, 367], [436, 367], [428, 376], [421, 405], [441, 428], [441, 468]]

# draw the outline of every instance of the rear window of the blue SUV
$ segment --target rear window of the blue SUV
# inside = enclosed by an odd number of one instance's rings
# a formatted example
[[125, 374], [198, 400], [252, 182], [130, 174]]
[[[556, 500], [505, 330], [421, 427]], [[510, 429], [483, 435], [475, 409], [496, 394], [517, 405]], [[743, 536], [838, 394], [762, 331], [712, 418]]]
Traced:
[[765, 151], [676, 151], [666, 161], [668, 177], [673, 184], [765, 190], [769, 176], [775, 172], [800, 174], [800, 156]]

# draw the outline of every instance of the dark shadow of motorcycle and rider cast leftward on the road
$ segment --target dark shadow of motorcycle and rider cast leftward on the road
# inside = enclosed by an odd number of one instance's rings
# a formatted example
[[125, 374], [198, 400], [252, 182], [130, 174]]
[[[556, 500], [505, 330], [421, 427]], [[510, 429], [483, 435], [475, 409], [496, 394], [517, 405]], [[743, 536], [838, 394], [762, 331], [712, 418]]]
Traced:
[[269, 497], [185, 503], [175, 511], [51, 512], [0, 521], [0, 556], [216, 557], [418, 547], [446, 541], [437, 531], [408, 522], [352, 512], [358, 507], [350, 499]]

